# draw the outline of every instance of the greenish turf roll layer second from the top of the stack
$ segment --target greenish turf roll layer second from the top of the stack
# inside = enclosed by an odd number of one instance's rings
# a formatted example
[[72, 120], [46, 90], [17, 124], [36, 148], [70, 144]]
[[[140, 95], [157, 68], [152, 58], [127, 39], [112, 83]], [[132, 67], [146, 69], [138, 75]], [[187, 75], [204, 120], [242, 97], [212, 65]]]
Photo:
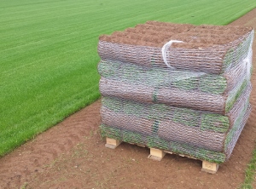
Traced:
[[[252, 64], [248, 62], [248, 64]], [[177, 71], [168, 68], [148, 68], [113, 60], [101, 60], [98, 72], [102, 77], [124, 83], [143, 83], [154, 88], [175, 87], [195, 90], [208, 94], [224, 94], [234, 89], [247, 75], [247, 65], [243, 63], [221, 75], [204, 72]]]

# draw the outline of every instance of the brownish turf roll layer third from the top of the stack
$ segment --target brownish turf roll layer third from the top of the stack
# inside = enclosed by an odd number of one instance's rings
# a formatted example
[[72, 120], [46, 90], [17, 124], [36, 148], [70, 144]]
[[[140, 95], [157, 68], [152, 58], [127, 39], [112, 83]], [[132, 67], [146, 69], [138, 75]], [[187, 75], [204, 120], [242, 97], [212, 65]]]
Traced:
[[247, 86], [250, 86], [250, 83], [245, 78], [229, 94], [219, 95], [172, 87], [154, 88], [143, 83], [124, 83], [104, 77], [100, 80], [100, 91], [103, 96], [118, 97], [143, 103], [188, 107], [222, 115], [230, 112], [237, 98], [245, 92]]

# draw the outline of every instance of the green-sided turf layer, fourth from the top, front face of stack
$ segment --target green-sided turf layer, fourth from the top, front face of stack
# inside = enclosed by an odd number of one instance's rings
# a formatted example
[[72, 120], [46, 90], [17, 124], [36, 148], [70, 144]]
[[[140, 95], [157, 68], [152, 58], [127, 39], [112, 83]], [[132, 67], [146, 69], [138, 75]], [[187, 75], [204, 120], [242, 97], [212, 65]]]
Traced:
[[113, 112], [121, 112], [125, 115], [155, 120], [169, 119], [175, 123], [182, 123], [186, 126], [200, 127], [203, 130], [213, 130], [220, 133], [225, 133], [230, 127], [229, 117], [189, 108], [166, 106], [165, 104], [145, 105], [131, 100], [103, 97], [102, 106], [107, 107]]

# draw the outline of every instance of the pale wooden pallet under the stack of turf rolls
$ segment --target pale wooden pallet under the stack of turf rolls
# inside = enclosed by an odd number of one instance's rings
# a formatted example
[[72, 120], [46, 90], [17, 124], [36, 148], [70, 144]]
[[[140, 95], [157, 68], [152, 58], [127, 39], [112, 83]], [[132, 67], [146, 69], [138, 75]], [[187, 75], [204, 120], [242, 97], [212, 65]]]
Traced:
[[[111, 148], [111, 149], [115, 149], [121, 143], [122, 143], [122, 141], [106, 138], [106, 145], [105, 146], [108, 147], [108, 148]], [[137, 144], [132, 144], [132, 145], [137, 145]], [[137, 145], [137, 146], [140, 146], [140, 145]], [[145, 147], [145, 146], [143, 146], [143, 147]], [[161, 161], [162, 158], [165, 157], [166, 153], [177, 154], [181, 157], [197, 159], [197, 158], [190, 157], [190, 156], [187, 156], [187, 155], [178, 154], [178, 153], [175, 153], [175, 152], [170, 152], [170, 151], [165, 151], [165, 150], [160, 150], [160, 149], [156, 149], [156, 148], [150, 148], [150, 154], [148, 155], [148, 158], [156, 160], [156, 161]], [[210, 174], [216, 174], [216, 172], [218, 171], [218, 163], [211, 163], [211, 162], [207, 162], [207, 161], [202, 161], [201, 171], [204, 171], [204, 172], [207, 172], [207, 173], [210, 173]]]

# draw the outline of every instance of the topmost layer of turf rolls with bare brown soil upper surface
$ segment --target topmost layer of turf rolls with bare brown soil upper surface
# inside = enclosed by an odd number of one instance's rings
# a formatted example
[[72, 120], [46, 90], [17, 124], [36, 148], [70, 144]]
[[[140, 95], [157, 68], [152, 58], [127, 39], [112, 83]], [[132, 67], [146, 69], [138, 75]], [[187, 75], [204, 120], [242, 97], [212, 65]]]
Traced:
[[146, 24], [102, 35], [102, 60], [119, 60], [141, 66], [166, 67], [161, 48], [170, 40], [166, 60], [178, 70], [219, 74], [244, 60], [253, 42], [252, 27], [193, 26], [148, 21]]

